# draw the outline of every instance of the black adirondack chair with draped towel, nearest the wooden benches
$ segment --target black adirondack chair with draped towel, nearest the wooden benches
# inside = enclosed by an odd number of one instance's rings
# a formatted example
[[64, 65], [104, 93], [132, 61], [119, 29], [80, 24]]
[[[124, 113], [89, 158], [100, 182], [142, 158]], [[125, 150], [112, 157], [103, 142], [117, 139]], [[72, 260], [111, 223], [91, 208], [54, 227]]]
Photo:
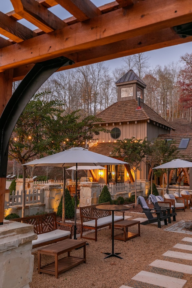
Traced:
[[[166, 214], [166, 209], [165, 210], [159, 210], [156, 208], [149, 209], [143, 196], [137, 197], [137, 204], [141, 205], [143, 212], [146, 214], [148, 218], [148, 220], [141, 222], [140, 224], [146, 225], [157, 222], [158, 228], [161, 228], [161, 221], [164, 220], [165, 225], [167, 225], [168, 215]], [[154, 217], [153, 214], [156, 214], [156, 216]]]

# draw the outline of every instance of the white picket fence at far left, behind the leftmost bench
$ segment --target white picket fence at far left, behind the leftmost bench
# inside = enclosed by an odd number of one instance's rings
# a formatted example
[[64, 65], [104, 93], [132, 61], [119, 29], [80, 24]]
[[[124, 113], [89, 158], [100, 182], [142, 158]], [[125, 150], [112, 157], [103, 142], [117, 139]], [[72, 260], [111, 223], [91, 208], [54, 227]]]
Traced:
[[[33, 189], [32, 191], [29, 189], [29, 192], [25, 190], [25, 204], [34, 204], [34, 203], [44, 203], [44, 189]], [[5, 206], [14, 206], [14, 205], [22, 205], [22, 190], [19, 193], [13, 191], [12, 195], [9, 195], [9, 201], [5, 202]]]

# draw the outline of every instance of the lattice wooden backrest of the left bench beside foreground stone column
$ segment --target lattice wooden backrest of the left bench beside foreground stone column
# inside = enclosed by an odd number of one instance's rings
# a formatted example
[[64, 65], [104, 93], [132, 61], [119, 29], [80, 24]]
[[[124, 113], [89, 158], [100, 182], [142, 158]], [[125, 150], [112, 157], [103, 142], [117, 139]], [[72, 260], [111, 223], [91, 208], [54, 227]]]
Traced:
[[12, 220], [34, 225], [33, 229], [36, 234], [43, 234], [57, 229], [55, 212], [16, 218]]

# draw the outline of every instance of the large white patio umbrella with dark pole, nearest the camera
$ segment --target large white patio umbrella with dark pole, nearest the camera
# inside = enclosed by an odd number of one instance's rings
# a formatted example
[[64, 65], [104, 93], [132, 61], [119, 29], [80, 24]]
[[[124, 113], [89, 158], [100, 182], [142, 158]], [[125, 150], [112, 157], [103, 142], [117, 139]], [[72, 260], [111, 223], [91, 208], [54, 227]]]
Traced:
[[[73, 147], [68, 150], [64, 150], [62, 152], [46, 156], [41, 159], [36, 159], [23, 165], [55, 166], [55, 167], [67, 167], [73, 165], [76, 167], [76, 179], [77, 179], [78, 166], [120, 165], [120, 164], [124, 165], [128, 163], [112, 157], [88, 151], [88, 149], [82, 147]], [[74, 239], [76, 239], [76, 204], [77, 204], [77, 181], [75, 191]]]

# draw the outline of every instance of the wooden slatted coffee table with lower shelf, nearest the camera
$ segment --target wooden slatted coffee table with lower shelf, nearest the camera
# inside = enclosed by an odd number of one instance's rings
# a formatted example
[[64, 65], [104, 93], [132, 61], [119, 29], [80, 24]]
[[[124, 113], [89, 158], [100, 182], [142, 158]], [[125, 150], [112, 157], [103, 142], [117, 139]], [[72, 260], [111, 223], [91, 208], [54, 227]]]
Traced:
[[[70, 252], [73, 249], [83, 247], [83, 258], [78, 258], [70, 256]], [[67, 253], [67, 257], [58, 259], [61, 254]], [[55, 257], [55, 262], [41, 267], [41, 254], [50, 255]], [[85, 240], [75, 240], [75, 239], [65, 239], [63, 241], [51, 244], [44, 248], [38, 249], [38, 273], [41, 272], [55, 275], [58, 278], [58, 274], [75, 267], [80, 263], [86, 263], [86, 241]]]

